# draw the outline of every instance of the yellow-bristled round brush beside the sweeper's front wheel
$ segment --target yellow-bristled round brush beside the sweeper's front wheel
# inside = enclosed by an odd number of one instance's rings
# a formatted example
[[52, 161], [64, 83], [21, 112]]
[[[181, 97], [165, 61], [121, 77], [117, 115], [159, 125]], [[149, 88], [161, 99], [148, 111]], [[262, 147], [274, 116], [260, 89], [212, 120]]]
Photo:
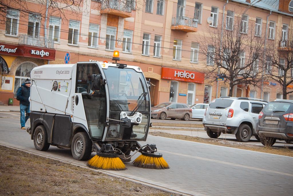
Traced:
[[86, 165], [98, 170], [127, 170], [126, 165], [118, 157], [118, 154], [113, 153], [113, 150], [109, 150], [109, 148], [112, 148], [112, 145], [108, 146], [106, 144], [105, 148], [102, 148], [101, 151], [97, 152], [97, 155], [88, 160]]

